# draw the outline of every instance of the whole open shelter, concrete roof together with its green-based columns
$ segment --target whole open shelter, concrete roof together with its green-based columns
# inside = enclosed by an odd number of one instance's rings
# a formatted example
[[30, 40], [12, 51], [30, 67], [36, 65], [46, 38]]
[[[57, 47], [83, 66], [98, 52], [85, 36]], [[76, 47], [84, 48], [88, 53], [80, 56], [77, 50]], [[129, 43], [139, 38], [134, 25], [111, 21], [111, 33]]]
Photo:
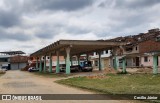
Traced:
[[[56, 73], [60, 72], [59, 68], [59, 56], [64, 56], [66, 59], [66, 74], [70, 74], [70, 59], [72, 56], [77, 56], [78, 64], [80, 63], [80, 55], [86, 54], [88, 57], [89, 53], [97, 52], [99, 54], [99, 70], [101, 67], [101, 52], [103, 50], [112, 50], [115, 47], [125, 45], [122, 42], [110, 42], [105, 40], [59, 40], [52, 43], [35, 53], [31, 54], [37, 58], [36, 67], [38, 68], [38, 58], [44, 56], [44, 67], [43, 71], [46, 72], [46, 56], [50, 56], [49, 70], [52, 72], [52, 56], [57, 56]], [[87, 59], [88, 60], [88, 59]], [[40, 59], [40, 72], [42, 72], [42, 60]]]

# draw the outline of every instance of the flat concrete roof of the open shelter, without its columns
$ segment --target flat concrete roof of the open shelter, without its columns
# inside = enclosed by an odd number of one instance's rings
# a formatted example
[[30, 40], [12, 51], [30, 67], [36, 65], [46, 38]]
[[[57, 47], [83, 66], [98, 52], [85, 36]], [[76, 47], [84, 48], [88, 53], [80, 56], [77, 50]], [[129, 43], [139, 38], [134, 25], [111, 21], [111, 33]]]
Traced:
[[117, 46], [125, 45], [122, 42], [110, 42], [105, 40], [59, 40], [52, 43], [36, 52], [31, 54], [31, 56], [42, 56], [52, 53], [56, 55], [56, 51], [60, 52], [60, 55], [65, 56], [65, 48], [70, 47], [70, 55], [79, 55], [85, 53], [91, 53], [95, 51], [102, 51], [107, 49], [112, 49]]

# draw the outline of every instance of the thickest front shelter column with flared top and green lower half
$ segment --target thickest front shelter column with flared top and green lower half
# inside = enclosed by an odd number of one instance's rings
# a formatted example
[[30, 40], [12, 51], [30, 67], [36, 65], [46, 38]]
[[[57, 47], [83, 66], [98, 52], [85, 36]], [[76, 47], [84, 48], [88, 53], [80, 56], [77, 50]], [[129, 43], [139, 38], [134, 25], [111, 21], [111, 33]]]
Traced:
[[71, 69], [70, 69], [70, 47], [66, 48], [66, 54], [67, 54], [67, 58], [66, 58], [66, 74], [70, 74]]

